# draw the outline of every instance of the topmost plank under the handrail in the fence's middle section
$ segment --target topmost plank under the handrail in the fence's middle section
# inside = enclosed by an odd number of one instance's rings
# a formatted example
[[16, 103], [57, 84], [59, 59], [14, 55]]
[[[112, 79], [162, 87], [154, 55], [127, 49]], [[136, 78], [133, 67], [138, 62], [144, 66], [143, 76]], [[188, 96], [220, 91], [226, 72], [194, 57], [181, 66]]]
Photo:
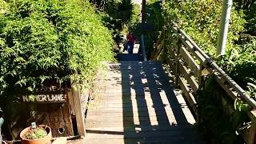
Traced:
[[184, 47], [182, 47], [182, 49], [180, 51], [180, 55], [184, 59], [184, 62], [190, 67], [192, 72], [197, 77], [199, 77], [200, 66], [197, 64], [197, 62], [195, 62], [194, 58], [190, 55], [190, 53]]

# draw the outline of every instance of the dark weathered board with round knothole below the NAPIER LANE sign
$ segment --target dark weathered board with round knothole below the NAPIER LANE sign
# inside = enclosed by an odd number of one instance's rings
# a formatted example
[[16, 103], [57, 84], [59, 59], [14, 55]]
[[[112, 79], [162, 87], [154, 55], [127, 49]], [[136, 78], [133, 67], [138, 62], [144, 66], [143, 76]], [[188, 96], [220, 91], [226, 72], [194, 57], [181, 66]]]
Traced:
[[31, 122], [50, 126], [54, 137], [74, 135], [70, 105], [62, 103], [21, 102], [15, 106], [13, 118], [10, 119], [10, 133], [13, 139], [19, 139], [19, 133]]

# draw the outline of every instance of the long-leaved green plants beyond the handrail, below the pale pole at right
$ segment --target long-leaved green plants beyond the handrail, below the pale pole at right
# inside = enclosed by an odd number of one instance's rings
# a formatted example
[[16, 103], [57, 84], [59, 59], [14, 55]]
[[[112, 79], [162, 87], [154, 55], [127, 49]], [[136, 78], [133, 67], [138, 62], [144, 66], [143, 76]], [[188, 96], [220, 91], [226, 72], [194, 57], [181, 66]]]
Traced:
[[[247, 82], [250, 78], [256, 78], [256, 38], [252, 38], [245, 44], [236, 46], [226, 52], [226, 57], [219, 62], [223, 70], [234, 78], [240, 86], [248, 90]], [[251, 95], [255, 97], [255, 95]]]

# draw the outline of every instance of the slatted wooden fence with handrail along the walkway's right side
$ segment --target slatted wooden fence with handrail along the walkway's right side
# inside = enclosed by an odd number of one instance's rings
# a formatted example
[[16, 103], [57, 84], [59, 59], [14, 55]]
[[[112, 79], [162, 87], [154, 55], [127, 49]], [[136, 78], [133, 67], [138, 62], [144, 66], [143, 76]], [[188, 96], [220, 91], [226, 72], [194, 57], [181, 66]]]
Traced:
[[196, 94], [205, 84], [205, 78], [210, 74], [214, 77], [219, 86], [226, 91], [226, 94], [234, 100], [239, 99], [249, 104], [250, 111], [247, 115], [251, 125], [243, 135], [248, 144], [256, 143], [256, 102], [250, 95], [246, 94], [236, 82], [232, 80], [197, 44], [178, 26], [172, 22], [171, 26], [174, 36], [177, 38], [177, 46], [173, 49], [165, 47], [165, 31], [158, 37], [158, 42], [151, 59], [158, 60], [160, 54], [168, 49], [170, 55], [165, 60], [175, 75], [175, 84], [182, 89], [187, 102], [189, 102], [198, 121], [198, 103]]

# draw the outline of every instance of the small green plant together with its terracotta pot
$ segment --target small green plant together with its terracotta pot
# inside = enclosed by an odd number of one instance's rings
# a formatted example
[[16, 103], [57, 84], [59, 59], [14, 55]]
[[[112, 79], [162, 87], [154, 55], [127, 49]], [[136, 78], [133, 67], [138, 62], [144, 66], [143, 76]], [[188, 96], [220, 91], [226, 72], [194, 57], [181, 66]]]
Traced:
[[50, 144], [52, 134], [49, 126], [36, 126], [32, 122], [30, 127], [22, 130], [20, 137], [22, 138], [22, 144]]

